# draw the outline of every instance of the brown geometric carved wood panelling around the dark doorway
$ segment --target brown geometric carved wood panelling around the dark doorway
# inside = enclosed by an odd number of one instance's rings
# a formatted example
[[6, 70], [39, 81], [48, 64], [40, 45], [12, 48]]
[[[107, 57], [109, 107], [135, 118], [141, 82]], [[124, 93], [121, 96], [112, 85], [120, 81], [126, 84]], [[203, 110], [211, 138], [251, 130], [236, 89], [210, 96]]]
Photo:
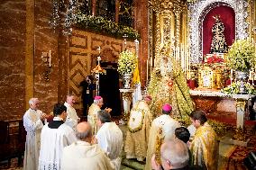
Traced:
[[[104, 62], [117, 63], [119, 53], [124, 49], [123, 40], [99, 35], [87, 31], [74, 30], [69, 39], [69, 94], [78, 97], [77, 109], [82, 108], [80, 82], [91, 75], [92, 68], [96, 67], [96, 58], [100, 56]], [[135, 52], [135, 45], [127, 41], [126, 49]]]

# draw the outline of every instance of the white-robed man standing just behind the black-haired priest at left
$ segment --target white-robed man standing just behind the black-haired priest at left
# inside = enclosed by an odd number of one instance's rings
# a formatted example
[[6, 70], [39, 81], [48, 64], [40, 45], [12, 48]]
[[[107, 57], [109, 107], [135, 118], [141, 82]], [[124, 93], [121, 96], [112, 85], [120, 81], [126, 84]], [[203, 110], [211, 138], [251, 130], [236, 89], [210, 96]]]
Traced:
[[64, 105], [67, 107], [67, 119], [65, 123], [67, 123], [72, 129], [75, 129], [75, 127], [78, 125], [79, 117], [76, 112], [76, 109], [74, 108], [74, 104], [76, 103], [76, 97], [73, 94], [67, 95], [67, 101], [64, 103]]

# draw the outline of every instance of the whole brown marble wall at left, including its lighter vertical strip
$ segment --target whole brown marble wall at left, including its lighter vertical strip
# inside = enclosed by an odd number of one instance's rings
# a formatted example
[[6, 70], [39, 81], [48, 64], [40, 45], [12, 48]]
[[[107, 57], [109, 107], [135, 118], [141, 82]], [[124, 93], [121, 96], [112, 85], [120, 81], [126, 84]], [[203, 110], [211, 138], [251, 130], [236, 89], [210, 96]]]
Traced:
[[[38, 97], [50, 112], [58, 101], [58, 35], [49, 27], [50, 1], [5, 0], [0, 4], [0, 120], [22, 118]], [[50, 81], [44, 79], [43, 51], [52, 51]]]

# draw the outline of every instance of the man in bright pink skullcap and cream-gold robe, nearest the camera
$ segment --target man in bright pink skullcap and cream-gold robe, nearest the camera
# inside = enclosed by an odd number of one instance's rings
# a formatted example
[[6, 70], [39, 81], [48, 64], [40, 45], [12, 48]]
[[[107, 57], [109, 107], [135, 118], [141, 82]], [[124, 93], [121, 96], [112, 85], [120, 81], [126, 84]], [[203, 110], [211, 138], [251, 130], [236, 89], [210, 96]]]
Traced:
[[172, 107], [169, 103], [162, 106], [162, 114], [152, 121], [150, 137], [147, 150], [145, 169], [151, 169], [151, 157], [154, 153], [160, 152], [161, 142], [167, 139], [174, 139], [175, 130], [180, 127], [178, 121], [170, 117]]

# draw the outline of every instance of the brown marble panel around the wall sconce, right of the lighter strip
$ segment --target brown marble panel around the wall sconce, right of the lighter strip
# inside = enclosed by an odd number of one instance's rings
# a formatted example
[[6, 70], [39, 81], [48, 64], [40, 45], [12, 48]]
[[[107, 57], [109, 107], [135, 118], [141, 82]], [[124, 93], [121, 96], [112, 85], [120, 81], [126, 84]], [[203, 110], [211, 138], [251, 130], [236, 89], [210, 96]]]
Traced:
[[[35, 0], [33, 96], [40, 98], [43, 112], [51, 112], [54, 103], [58, 102], [58, 85], [61, 77], [59, 76], [59, 34], [50, 29], [50, 14], [51, 1]], [[45, 79], [49, 67], [41, 59], [42, 52], [51, 53], [49, 81]]]

